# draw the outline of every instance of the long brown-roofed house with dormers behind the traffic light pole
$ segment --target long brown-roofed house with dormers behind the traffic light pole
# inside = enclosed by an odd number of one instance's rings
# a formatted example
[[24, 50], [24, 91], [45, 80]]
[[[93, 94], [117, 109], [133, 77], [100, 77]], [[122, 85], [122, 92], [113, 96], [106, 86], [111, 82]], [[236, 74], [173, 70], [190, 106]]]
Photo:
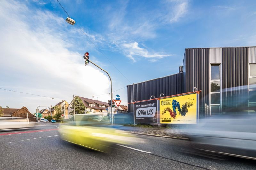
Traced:
[[[83, 101], [83, 104], [86, 107], [86, 112], [98, 113], [103, 116], [107, 116], [107, 114], [110, 113], [110, 110], [107, 110], [107, 108], [110, 107], [107, 102], [88, 99], [88, 98], [84, 98], [84, 97], [80, 97], [80, 96], [76, 96], [76, 97], [79, 97]], [[70, 108], [70, 106], [72, 106], [71, 105], [72, 103], [73, 103], [73, 100], [68, 105], [68, 113], [70, 113], [72, 111], [72, 109]], [[118, 110], [118, 108], [115, 107], [114, 113], [117, 113], [117, 110]], [[76, 111], [76, 106], [75, 106], [75, 111]]]

